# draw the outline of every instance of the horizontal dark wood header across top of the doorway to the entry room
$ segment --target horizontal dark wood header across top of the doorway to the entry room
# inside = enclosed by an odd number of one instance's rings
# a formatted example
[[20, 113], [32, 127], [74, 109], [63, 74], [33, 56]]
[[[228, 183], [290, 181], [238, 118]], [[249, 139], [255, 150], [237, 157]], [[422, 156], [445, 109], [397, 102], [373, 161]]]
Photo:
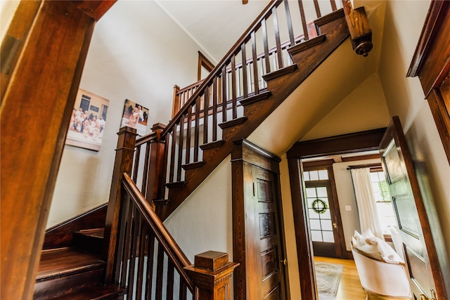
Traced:
[[360, 131], [356, 133], [330, 136], [311, 141], [297, 142], [288, 150], [288, 158], [291, 157], [315, 157], [323, 155], [335, 155], [349, 152], [378, 150], [385, 128]]

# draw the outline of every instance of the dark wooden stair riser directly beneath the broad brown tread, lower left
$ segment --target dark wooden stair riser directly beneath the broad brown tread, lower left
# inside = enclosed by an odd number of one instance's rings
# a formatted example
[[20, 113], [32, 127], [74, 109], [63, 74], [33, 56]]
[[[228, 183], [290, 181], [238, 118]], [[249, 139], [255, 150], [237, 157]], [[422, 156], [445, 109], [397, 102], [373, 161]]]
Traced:
[[103, 268], [86, 270], [81, 273], [67, 275], [49, 280], [41, 280], [34, 285], [34, 300], [51, 299], [75, 292], [85, 287], [98, 285], [101, 282]]

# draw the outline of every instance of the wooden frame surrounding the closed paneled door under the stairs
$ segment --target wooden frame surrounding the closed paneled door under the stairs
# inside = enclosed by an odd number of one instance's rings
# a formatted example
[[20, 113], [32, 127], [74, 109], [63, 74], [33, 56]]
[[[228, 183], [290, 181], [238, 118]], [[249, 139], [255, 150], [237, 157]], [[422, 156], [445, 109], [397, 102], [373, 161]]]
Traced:
[[[247, 193], [251, 188], [245, 188], [245, 176], [248, 175], [248, 165], [260, 167], [274, 173], [276, 184], [276, 193], [278, 200], [278, 223], [280, 226], [281, 251], [284, 257], [287, 257], [285, 247], [285, 230], [283, 221], [283, 207], [281, 200], [281, 184], [280, 184], [280, 162], [281, 158], [259, 148], [257, 145], [250, 143], [245, 139], [235, 141], [235, 147], [231, 152], [231, 168], [233, 169], [232, 178], [232, 210], [233, 210], [233, 261], [240, 263], [240, 266], [234, 271], [234, 296], [236, 300], [250, 299], [248, 298], [248, 288], [259, 289], [259, 282], [251, 282], [252, 272], [255, 272], [246, 263], [247, 253], [252, 252], [252, 248], [248, 248], [246, 237], [248, 232], [248, 218], [245, 211], [245, 198], [252, 198], [252, 194]], [[253, 226], [250, 224], [250, 226]], [[251, 246], [251, 245], [250, 245]], [[288, 268], [285, 266], [283, 272], [283, 280], [285, 282], [285, 299], [290, 300]], [[249, 281], [250, 280], [250, 281]]]

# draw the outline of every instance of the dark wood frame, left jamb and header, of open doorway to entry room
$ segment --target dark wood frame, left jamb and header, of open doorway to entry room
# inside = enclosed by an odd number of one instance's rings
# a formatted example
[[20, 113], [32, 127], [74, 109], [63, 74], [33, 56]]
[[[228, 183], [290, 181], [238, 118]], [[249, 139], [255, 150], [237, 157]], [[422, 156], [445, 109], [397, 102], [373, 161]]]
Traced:
[[316, 289], [311, 240], [302, 199], [302, 173], [300, 159], [336, 155], [350, 152], [378, 150], [386, 128], [297, 142], [287, 152], [290, 193], [293, 203], [295, 242], [297, 244], [300, 288], [303, 300], [319, 299]]

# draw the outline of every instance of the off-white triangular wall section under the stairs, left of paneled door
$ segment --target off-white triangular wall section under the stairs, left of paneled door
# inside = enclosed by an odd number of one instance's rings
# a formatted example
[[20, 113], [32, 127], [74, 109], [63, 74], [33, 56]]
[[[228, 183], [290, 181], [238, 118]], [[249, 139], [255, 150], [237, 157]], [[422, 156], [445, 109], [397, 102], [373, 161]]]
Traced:
[[230, 160], [229, 155], [164, 222], [192, 263], [195, 254], [210, 250], [227, 252], [233, 261]]

